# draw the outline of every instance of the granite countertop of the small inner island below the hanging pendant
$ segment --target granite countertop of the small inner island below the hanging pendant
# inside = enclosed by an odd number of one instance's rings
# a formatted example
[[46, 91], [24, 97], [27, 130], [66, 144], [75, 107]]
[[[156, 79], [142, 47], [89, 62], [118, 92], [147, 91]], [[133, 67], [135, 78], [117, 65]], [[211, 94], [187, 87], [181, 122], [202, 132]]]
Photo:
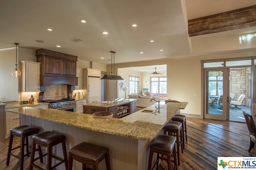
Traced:
[[84, 106], [93, 106], [93, 107], [112, 107], [112, 106], [119, 106], [122, 104], [127, 104], [129, 102], [135, 101], [137, 99], [124, 99], [124, 98], [118, 98], [115, 100], [115, 102], [110, 102], [108, 103], [108, 101], [104, 101], [104, 102], [94, 102], [94, 103], [90, 103], [90, 104], [82, 104]]

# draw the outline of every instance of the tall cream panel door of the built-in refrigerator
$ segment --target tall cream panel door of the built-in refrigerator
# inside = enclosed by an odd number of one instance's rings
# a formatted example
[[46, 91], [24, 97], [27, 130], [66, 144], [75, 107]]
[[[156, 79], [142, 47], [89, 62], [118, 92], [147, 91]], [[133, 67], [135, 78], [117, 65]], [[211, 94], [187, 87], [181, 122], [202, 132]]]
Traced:
[[100, 78], [88, 77], [88, 99], [100, 98]]

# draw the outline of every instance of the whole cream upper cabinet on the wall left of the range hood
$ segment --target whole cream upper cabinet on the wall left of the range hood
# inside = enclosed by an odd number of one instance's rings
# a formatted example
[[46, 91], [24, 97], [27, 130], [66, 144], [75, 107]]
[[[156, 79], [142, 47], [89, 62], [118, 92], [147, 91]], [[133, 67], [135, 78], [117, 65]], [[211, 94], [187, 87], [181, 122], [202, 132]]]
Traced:
[[40, 63], [20, 61], [19, 92], [40, 91]]

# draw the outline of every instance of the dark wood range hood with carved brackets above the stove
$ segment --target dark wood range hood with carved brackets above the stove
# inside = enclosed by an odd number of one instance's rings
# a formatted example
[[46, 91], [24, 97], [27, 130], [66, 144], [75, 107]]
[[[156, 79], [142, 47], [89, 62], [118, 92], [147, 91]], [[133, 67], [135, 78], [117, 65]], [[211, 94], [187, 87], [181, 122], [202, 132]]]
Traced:
[[78, 85], [78, 77], [76, 77], [77, 56], [38, 49], [36, 50], [36, 58], [37, 62], [41, 63], [39, 100], [42, 100], [45, 86], [56, 84], [67, 84], [68, 98], [70, 95], [72, 97], [72, 90], [74, 90], [74, 86]]

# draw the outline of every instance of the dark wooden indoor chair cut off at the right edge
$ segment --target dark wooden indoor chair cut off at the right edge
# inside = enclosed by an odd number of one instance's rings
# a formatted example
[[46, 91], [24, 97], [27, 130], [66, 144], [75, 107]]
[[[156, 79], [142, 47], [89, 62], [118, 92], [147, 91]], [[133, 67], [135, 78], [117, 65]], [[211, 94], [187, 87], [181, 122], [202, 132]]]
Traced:
[[248, 152], [250, 152], [254, 147], [254, 143], [256, 143], [256, 127], [253, 115], [245, 113], [245, 111], [243, 111], [243, 114], [250, 134], [250, 147], [248, 150]]

